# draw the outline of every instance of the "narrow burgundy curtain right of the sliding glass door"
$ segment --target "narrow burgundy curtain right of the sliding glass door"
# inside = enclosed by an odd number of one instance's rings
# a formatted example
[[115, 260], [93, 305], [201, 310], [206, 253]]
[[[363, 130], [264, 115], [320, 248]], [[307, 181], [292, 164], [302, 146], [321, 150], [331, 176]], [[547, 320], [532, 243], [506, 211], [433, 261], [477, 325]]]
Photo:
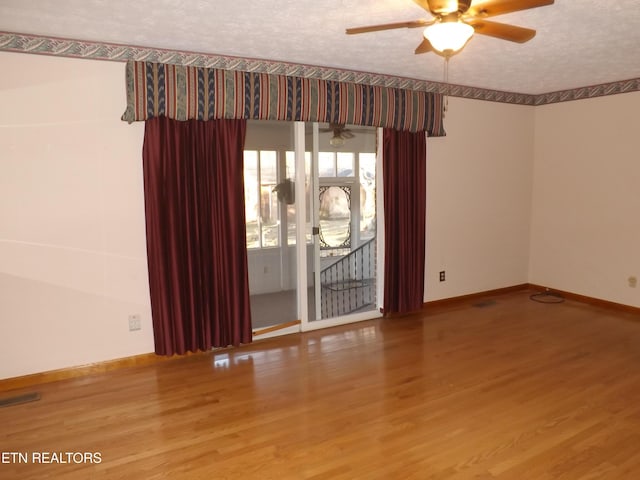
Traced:
[[426, 134], [383, 134], [385, 315], [420, 310], [424, 297]]

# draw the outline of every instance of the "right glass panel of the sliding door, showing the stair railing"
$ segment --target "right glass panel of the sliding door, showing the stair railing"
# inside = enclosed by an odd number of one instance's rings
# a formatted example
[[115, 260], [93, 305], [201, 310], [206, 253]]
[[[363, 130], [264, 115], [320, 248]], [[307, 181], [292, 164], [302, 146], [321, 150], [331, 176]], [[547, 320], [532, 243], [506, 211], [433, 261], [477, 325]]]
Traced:
[[347, 128], [353, 135], [337, 147], [319, 128], [316, 321], [378, 315], [376, 129]]

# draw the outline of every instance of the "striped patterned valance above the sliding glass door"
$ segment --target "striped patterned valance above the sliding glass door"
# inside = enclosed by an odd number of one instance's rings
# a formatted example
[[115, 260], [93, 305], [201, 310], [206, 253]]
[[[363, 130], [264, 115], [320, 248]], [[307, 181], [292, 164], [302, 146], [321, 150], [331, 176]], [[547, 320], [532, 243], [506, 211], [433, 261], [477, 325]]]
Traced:
[[243, 118], [335, 122], [443, 136], [438, 93], [267, 73], [127, 63], [127, 110], [144, 121]]

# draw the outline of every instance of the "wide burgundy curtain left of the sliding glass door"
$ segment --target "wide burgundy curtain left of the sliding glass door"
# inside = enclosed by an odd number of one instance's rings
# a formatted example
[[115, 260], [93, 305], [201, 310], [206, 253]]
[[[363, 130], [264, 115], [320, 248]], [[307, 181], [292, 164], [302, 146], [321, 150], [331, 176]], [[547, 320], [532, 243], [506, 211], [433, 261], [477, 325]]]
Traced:
[[145, 123], [147, 255], [159, 355], [251, 341], [245, 132], [245, 120]]

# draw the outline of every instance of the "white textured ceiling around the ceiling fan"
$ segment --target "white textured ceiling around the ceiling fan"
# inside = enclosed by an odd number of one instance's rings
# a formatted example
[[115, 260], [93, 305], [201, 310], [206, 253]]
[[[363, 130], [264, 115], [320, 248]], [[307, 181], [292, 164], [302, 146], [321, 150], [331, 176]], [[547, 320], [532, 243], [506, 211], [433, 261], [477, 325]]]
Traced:
[[[443, 80], [443, 59], [414, 55], [421, 29], [345, 28], [430, 16], [412, 0], [1, 0], [0, 31], [232, 55]], [[541, 94], [640, 78], [638, 0], [556, 0], [494, 17], [534, 28], [516, 44], [475, 35], [449, 81]]]

